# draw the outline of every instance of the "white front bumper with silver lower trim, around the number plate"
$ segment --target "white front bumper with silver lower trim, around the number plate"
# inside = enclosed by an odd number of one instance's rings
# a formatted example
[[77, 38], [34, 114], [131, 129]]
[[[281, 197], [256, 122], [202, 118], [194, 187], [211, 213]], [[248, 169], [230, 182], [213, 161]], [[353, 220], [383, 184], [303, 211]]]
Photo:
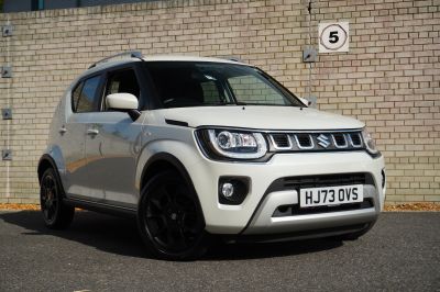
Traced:
[[[212, 234], [265, 235], [318, 231], [340, 226], [364, 226], [373, 223], [385, 200], [382, 188], [384, 158], [372, 158], [365, 151], [277, 154], [268, 162], [221, 162], [198, 160], [188, 169], [199, 195], [206, 229]], [[296, 190], [271, 191], [271, 184], [284, 177], [329, 173], [367, 173], [364, 198], [372, 205], [360, 210], [273, 216], [280, 205], [298, 205]], [[250, 190], [241, 205], [218, 202], [220, 177], [248, 177]], [[365, 225], [366, 226], [366, 225]]]

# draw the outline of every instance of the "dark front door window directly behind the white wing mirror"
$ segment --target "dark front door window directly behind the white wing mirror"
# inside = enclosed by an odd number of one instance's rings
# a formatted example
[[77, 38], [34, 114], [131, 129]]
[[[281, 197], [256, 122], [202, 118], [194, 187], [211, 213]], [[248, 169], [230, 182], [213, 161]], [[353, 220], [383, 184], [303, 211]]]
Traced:
[[[141, 90], [134, 70], [120, 70], [109, 75], [105, 97], [113, 93], [131, 93], [139, 100]], [[102, 109], [108, 110], [107, 100], [105, 100]]]

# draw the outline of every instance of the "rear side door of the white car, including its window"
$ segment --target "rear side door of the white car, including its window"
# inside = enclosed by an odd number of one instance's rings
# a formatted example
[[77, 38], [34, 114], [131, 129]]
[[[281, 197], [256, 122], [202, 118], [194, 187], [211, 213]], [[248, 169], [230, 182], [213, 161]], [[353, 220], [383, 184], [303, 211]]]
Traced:
[[89, 173], [85, 155], [86, 125], [98, 109], [101, 75], [84, 78], [73, 90], [72, 112], [59, 130], [66, 161], [65, 190], [68, 196], [87, 200], [103, 200], [103, 192], [97, 189]]

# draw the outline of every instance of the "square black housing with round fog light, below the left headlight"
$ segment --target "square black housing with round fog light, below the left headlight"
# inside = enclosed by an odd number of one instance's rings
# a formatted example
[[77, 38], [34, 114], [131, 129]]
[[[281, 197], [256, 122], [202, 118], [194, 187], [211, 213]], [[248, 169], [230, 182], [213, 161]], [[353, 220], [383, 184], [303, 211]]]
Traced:
[[221, 177], [219, 179], [219, 203], [240, 205], [249, 192], [249, 178]]

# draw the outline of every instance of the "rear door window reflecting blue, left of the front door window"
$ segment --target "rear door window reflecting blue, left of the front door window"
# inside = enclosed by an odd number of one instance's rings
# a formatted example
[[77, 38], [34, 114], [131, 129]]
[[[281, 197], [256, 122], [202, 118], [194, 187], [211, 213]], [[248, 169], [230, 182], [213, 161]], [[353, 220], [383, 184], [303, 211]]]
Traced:
[[94, 112], [98, 109], [97, 94], [101, 77], [95, 76], [82, 81], [73, 92], [73, 111], [77, 113]]

